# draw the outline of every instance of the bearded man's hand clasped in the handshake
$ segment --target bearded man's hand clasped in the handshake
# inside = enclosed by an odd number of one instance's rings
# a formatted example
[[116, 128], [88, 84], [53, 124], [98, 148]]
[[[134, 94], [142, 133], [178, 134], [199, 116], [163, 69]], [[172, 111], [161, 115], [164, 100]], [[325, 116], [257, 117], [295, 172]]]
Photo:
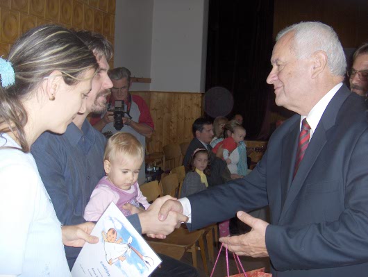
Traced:
[[156, 199], [149, 206], [145, 212], [140, 212], [140, 224], [142, 226], [142, 233], [147, 234], [149, 237], [165, 239], [166, 235], [172, 233], [175, 228], [179, 228], [181, 222], [187, 221], [188, 218], [182, 215], [178, 210], [170, 210], [165, 213], [165, 219], [159, 220], [160, 208], [168, 200], [176, 200], [172, 196], [166, 195]]

